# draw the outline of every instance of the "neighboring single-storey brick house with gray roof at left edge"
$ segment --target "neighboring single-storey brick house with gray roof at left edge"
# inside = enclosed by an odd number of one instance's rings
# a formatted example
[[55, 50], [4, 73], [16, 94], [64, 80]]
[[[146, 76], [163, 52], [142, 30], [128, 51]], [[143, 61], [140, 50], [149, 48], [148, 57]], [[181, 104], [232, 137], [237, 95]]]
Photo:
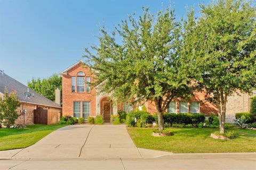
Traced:
[[[54, 103], [46, 97], [39, 95], [34, 90], [11, 78], [3, 71], [0, 71], [0, 97], [4, 96], [5, 89], [7, 89], [8, 92], [15, 90], [21, 104], [17, 109], [20, 116], [16, 120], [16, 124], [58, 123], [58, 119], [61, 115], [60, 104]], [[57, 97], [58, 96], [60, 97], [60, 93]], [[58, 101], [60, 101], [60, 99]]]

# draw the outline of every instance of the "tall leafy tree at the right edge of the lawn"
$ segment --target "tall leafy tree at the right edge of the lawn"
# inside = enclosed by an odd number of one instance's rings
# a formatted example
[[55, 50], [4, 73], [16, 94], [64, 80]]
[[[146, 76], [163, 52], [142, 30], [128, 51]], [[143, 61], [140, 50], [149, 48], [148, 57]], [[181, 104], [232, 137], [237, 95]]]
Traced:
[[228, 96], [251, 93], [256, 86], [255, 12], [248, 1], [219, 0], [201, 5], [202, 16], [191, 28], [196, 43], [189, 54], [201, 72], [199, 89], [219, 108], [220, 133], [225, 132]]

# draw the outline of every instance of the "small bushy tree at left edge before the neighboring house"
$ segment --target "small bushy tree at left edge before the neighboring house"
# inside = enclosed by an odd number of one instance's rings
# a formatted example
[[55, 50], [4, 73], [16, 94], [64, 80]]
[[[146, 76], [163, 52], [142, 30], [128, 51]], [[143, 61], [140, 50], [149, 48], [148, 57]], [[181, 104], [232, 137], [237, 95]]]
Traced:
[[0, 98], [0, 124], [10, 128], [19, 117], [16, 109], [20, 106], [16, 92], [12, 91], [10, 94], [5, 89], [4, 97]]

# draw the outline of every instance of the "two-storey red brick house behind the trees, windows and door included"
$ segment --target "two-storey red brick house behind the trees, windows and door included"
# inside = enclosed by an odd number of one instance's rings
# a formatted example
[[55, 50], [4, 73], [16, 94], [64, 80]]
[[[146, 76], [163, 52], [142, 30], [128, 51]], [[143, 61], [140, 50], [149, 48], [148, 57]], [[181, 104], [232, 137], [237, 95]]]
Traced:
[[[62, 114], [74, 117], [102, 115], [105, 122], [110, 121], [110, 115], [118, 110], [129, 112], [132, 106], [126, 103], [109, 101], [110, 94], [99, 94], [97, 87], [91, 87], [93, 73], [90, 68], [83, 66], [82, 61], [63, 70], [62, 76]], [[103, 85], [102, 85], [103, 86]], [[172, 101], [168, 111], [170, 113], [217, 113], [218, 108], [204, 101], [204, 93], [197, 92], [189, 101]], [[156, 113], [153, 101], [144, 104], [149, 113]], [[139, 109], [142, 106], [138, 106]]]

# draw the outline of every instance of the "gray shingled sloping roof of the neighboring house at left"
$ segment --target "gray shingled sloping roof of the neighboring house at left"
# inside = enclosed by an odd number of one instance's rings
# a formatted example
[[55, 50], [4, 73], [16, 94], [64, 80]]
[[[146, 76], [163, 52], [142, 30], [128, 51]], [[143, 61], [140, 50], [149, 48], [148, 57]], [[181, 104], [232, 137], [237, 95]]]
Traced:
[[[61, 108], [59, 104], [38, 94], [36, 91], [28, 88], [24, 84], [11, 78], [9, 75], [0, 70], [0, 92], [2, 94], [4, 94], [5, 88], [7, 88], [9, 92], [15, 90], [17, 92], [17, 97], [21, 102]], [[25, 92], [27, 91], [29, 91], [31, 94], [29, 98], [25, 95]]]

